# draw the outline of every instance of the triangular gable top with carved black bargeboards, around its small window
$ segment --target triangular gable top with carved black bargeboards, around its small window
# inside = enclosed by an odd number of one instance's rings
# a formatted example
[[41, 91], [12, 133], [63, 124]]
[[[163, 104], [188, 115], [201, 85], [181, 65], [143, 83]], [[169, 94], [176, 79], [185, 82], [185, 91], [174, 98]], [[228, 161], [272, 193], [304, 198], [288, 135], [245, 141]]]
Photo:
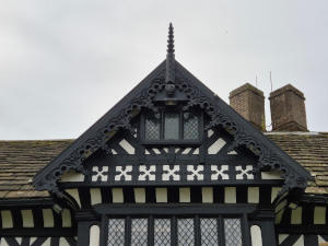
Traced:
[[[137, 174], [142, 168], [144, 184], [149, 184], [155, 177], [155, 181], [161, 181], [164, 185], [165, 181], [172, 181], [172, 179], [163, 179], [164, 173], [174, 168], [172, 165], [177, 165], [175, 168], [181, 168], [176, 185], [191, 184], [200, 177], [202, 185], [212, 184], [219, 179], [211, 179], [211, 175], [213, 175], [211, 165], [218, 165], [213, 167], [214, 171], [216, 168], [219, 173], [223, 172], [222, 168], [225, 169], [226, 164], [220, 164], [220, 157], [223, 154], [227, 156], [229, 152], [233, 153], [233, 151], [238, 150], [237, 156], [229, 156], [234, 161], [230, 161], [231, 164], [227, 165], [231, 177], [226, 180], [238, 181], [237, 177], [241, 173], [243, 173], [242, 180], [245, 179], [244, 177], [247, 179], [247, 177], [254, 176], [259, 177], [258, 180], [262, 180], [261, 172], [278, 171], [281, 178], [283, 178], [283, 191], [293, 188], [304, 189], [307, 180], [312, 179], [311, 175], [178, 63], [174, 59], [172, 44], [169, 45], [166, 60], [42, 169], [34, 178], [33, 184], [35, 187], [39, 190], [46, 189], [57, 192], [59, 191], [58, 180], [62, 174], [70, 169], [83, 173], [91, 183], [93, 178], [98, 181], [98, 178], [103, 178], [102, 175], [109, 173], [112, 178], [108, 179], [107, 177], [107, 180], [113, 183], [107, 183], [107, 185], [115, 185], [115, 172], [124, 172], [126, 168], [134, 175], [134, 177], [131, 176], [131, 184], [137, 185], [138, 181], [142, 181]], [[138, 127], [133, 122], [138, 121], [138, 118], [145, 114], [145, 110], [157, 113], [163, 107], [172, 108], [172, 105], [179, 105], [179, 112], [191, 109], [201, 112], [203, 117], [207, 118], [203, 120], [201, 129], [201, 134], [204, 136], [202, 141], [204, 142], [199, 145], [188, 145], [181, 141], [165, 145], [165, 141], [161, 142], [160, 139], [160, 142], [153, 147], [151, 144], [142, 145], [140, 142], [140, 130], [142, 129], [140, 125], [142, 124], [139, 120]], [[215, 133], [215, 139], [209, 137], [210, 131]], [[224, 138], [227, 138], [229, 141], [225, 141]], [[211, 161], [210, 155], [213, 155], [210, 153], [211, 148], [215, 149], [212, 145], [214, 143], [220, 145], [222, 141], [230, 143], [229, 150], [222, 148], [222, 151], [225, 150], [225, 152], [214, 154]], [[212, 145], [209, 145], [210, 143]], [[157, 147], [159, 144], [161, 148]], [[189, 150], [189, 148], [191, 149]], [[168, 149], [171, 149], [169, 152]], [[186, 153], [185, 156], [183, 156], [183, 153]], [[216, 153], [219, 153], [219, 150], [216, 150]], [[159, 167], [149, 161], [154, 155], [159, 155], [154, 160], [163, 157], [162, 162], [156, 160], [156, 165], [161, 165]], [[181, 159], [180, 155], [183, 157], [191, 155], [192, 159], [179, 160]], [[245, 156], [251, 156], [249, 157], [249, 164], [243, 160]], [[122, 165], [122, 161], [126, 164]], [[136, 165], [134, 168], [127, 164], [129, 161]], [[210, 164], [211, 162], [213, 164]], [[243, 164], [238, 166], [237, 163]], [[164, 169], [166, 165], [168, 165], [169, 171]], [[190, 172], [194, 175], [192, 180], [188, 179]], [[225, 173], [223, 174], [225, 175]], [[96, 175], [96, 178], [92, 175]], [[128, 184], [121, 177], [119, 179], [125, 183], [119, 185]], [[221, 184], [223, 184], [222, 180], [225, 179], [220, 179]]]

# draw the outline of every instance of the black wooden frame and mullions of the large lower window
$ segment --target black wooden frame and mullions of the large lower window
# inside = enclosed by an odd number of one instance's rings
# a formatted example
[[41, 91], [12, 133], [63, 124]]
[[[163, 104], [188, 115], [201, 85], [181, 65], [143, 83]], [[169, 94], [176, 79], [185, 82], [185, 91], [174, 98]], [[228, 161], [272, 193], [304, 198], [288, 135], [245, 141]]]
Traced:
[[[178, 246], [178, 219], [194, 219], [195, 245], [201, 246], [200, 219], [216, 219], [219, 246], [225, 246], [224, 219], [241, 219], [243, 246], [250, 246], [248, 214], [254, 204], [98, 204], [95, 211], [102, 216], [101, 246], [107, 246], [109, 219], [125, 220], [125, 246], [130, 246], [132, 219], [148, 220], [148, 245], [154, 245], [154, 220], [171, 220], [171, 245]], [[222, 233], [223, 232], [223, 233]], [[222, 234], [220, 234], [222, 233]]]

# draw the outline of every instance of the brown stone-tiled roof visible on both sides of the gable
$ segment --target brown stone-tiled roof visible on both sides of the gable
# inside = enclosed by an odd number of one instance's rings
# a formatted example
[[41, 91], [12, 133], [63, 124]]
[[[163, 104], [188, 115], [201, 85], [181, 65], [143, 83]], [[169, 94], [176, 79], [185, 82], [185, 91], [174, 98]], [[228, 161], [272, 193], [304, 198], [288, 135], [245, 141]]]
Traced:
[[[315, 176], [307, 192], [328, 195], [328, 133], [266, 134]], [[49, 196], [47, 191], [34, 190], [33, 176], [72, 141], [0, 141], [0, 198]]]

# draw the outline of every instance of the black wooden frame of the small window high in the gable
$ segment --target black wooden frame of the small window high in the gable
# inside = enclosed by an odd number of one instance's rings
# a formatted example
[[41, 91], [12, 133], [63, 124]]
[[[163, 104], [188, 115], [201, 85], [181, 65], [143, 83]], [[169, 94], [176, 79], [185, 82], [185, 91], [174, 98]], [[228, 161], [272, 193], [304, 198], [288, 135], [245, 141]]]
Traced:
[[[160, 119], [160, 139], [149, 140], [145, 139], [145, 114], [149, 110], [144, 110], [140, 119], [140, 140], [143, 145], [201, 145], [203, 142], [203, 113], [196, 110], [183, 112], [180, 108], [161, 108], [159, 114], [161, 114]], [[164, 139], [165, 131], [165, 113], [177, 113], [179, 115], [179, 139], [167, 140]], [[198, 132], [199, 138], [197, 140], [184, 139], [184, 114], [191, 113], [198, 117]]]

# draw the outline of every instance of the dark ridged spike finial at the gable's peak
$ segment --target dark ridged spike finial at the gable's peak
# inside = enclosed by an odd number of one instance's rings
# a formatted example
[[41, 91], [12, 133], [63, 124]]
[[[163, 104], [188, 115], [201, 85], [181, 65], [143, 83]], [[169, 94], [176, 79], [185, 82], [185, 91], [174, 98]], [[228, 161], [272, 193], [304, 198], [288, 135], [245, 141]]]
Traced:
[[174, 56], [174, 28], [172, 23], [168, 26], [167, 54], [166, 54], [166, 78], [165, 82], [175, 81], [175, 56]]

